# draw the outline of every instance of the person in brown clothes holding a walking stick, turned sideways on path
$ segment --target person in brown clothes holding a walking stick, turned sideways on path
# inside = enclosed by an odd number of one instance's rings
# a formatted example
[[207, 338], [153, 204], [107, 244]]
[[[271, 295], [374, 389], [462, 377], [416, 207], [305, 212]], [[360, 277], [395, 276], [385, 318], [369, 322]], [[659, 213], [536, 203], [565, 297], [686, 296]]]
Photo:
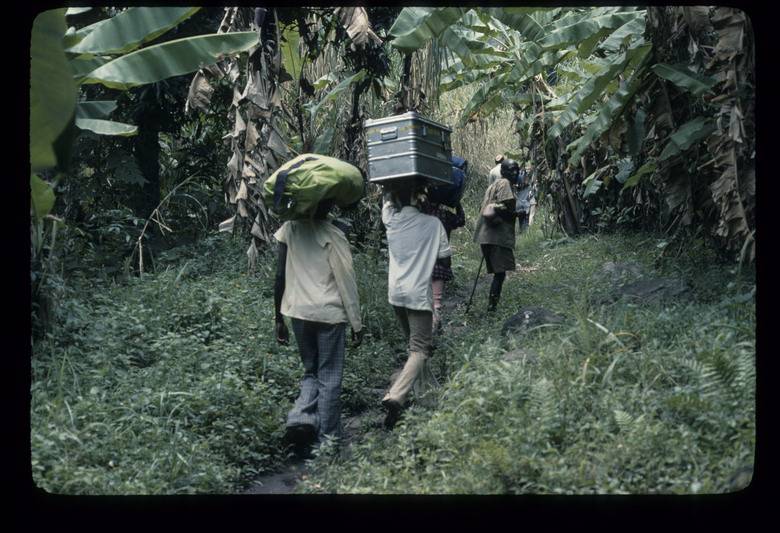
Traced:
[[493, 312], [501, 298], [506, 272], [515, 270], [515, 208], [517, 198], [512, 190], [520, 166], [512, 159], [501, 163], [501, 177], [485, 191], [480, 216], [474, 231], [474, 242], [480, 245], [489, 274], [493, 274], [488, 297], [488, 311]]

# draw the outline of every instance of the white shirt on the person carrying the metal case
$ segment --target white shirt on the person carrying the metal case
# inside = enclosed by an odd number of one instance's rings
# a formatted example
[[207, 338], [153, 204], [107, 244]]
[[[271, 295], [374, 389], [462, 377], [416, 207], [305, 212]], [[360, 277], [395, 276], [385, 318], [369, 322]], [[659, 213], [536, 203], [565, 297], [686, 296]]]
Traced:
[[387, 300], [397, 307], [433, 311], [431, 274], [437, 258], [450, 257], [452, 248], [441, 221], [416, 207], [398, 210], [385, 197], [382, 222], [387, 228], [390, 268]]

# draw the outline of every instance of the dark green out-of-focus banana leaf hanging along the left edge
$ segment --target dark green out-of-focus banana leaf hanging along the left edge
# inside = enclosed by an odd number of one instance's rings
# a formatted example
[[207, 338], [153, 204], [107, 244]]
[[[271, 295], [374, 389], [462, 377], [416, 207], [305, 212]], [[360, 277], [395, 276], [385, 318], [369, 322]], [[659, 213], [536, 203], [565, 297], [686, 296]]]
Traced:
[[73, 117], [76, 85], [62, 51], [65, 9], [40, 13], [30, 44], [30, 165], [33, 172], [57, 164], [53, 144]]

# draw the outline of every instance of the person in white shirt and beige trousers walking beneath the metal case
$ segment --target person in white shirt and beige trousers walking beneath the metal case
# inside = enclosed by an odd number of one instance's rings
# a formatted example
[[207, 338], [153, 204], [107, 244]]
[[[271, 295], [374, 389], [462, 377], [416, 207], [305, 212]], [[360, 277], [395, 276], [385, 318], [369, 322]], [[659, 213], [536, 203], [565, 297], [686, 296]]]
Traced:
[[430, 356], [433, 322], [431, 274], [436, 259], [449, 266], [452, 249], [441, 221], [420, 212], [411, 186], [385, 193], [382, 223], [387, 229], [390, 265], [387, 299], [393, 306], [409, 356], [401, 373], [382, 399], [387, 411], [385, 427], [392, 429], [406, 403], [409, 391], [421, 376]]

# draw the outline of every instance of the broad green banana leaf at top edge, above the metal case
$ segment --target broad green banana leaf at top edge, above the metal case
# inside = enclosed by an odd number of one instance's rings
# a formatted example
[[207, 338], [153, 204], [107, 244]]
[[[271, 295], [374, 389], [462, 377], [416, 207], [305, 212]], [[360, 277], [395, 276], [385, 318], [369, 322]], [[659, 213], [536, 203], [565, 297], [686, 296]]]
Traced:
[[405, 7], [390, 28], [391, 44], [410, 53], [437, 38], [468, 11], [460, 7]]

